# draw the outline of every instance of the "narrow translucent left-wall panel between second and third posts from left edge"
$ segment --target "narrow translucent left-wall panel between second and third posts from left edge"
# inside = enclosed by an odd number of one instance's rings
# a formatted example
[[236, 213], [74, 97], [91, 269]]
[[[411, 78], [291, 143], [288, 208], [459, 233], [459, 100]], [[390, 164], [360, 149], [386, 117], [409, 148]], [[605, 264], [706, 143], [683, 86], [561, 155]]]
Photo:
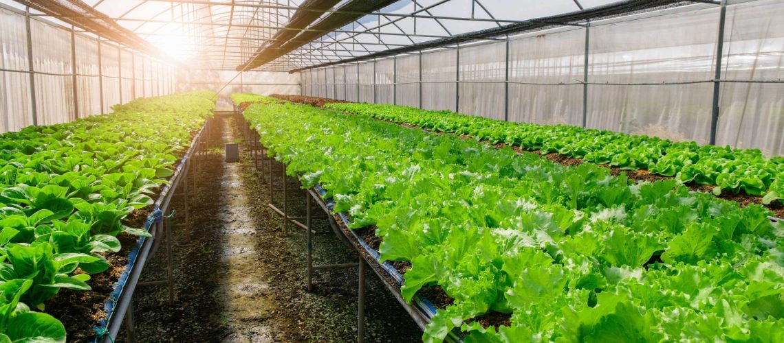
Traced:
[[98, 41], [76, 35], [76, 88], [79, 117], [101, 113]]

